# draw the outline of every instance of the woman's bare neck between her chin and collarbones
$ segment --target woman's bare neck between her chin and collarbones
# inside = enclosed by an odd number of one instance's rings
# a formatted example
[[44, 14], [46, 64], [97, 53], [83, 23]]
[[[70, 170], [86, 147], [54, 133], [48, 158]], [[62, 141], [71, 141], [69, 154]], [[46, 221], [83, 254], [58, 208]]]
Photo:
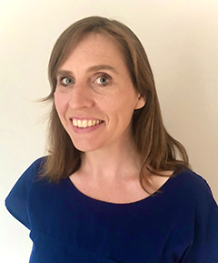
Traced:
[[138, 177], [140, 171], [140, 156], [133, 143], [116, 144], [82, 156], [81, 172], [94, 180], [122, 179]]

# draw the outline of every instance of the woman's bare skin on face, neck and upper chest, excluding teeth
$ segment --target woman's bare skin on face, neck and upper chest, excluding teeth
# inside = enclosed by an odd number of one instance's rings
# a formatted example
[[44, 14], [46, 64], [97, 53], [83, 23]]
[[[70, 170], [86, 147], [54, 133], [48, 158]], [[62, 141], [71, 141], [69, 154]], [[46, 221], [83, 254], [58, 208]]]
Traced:
[[[103, 66], [104, 65], [104, 66]], [[148, 194], [139, 184], [139, 155], [134, 149], [132, 116], [145, 104], [135, 91], [124, 57], [111, 39], [86, 35], [59, 68], [54, 104], [74, 147], [84, 152], [70, 179], [89, 197], [134, 202]], [[79, 129], [72, 119], [100, 120]]]

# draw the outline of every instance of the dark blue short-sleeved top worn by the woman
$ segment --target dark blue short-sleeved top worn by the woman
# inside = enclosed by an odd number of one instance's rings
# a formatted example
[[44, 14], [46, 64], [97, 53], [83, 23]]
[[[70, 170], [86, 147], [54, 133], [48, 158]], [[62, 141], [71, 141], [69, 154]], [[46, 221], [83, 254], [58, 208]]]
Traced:
[[205, 180], [186, 169], [162, 193], [114, 204], [69, 179], [37, 180], [44, 158], [19, 178], [6, 207], [34, 242], [31, 263], [218, 262], [218, 208]]

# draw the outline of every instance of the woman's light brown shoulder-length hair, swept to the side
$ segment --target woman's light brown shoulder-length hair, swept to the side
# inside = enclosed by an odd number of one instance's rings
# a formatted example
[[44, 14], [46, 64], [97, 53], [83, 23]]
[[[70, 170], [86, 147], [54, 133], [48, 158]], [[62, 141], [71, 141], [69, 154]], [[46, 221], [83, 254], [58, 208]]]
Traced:
[[[161, 171], [181, 171], [189, 167], [186, 151], [181, 143], [171, 137], [163, 126], [163, 119], [154, 85], [154, 76], [144, 47], [126, 25], [100, 16], [86, 17], [70, 25], [57, 39], [52, 51], [48, 76], [51, 93], [45, 101], [53, 103], [49, 124], [49, 153], [43, 175], [58, 182], [73, 174], [81, 165], [81, 152], [62, 126], [54, 106], [56, 72], [85, 35], [107, 35], [120, 47], [135, 89], [146, 98], [145, 106], [134, 111], [133, 136], [135, 147], [141, 155], [140, 183], [144, 187], [144, 169], [156, 175]], [[145, 190], [145, 188], [144, 188]]]

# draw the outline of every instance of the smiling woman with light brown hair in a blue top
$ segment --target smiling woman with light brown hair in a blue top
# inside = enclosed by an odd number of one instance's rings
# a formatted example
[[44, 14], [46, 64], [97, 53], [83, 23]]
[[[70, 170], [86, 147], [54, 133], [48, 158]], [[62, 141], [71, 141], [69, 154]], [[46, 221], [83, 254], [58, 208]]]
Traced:
[[218, 262], [218, 208], [163, 126], [144, 48], [92, 16], [49, 63], [50, 155], [6, 198], [31, 230], [31, 263]]

